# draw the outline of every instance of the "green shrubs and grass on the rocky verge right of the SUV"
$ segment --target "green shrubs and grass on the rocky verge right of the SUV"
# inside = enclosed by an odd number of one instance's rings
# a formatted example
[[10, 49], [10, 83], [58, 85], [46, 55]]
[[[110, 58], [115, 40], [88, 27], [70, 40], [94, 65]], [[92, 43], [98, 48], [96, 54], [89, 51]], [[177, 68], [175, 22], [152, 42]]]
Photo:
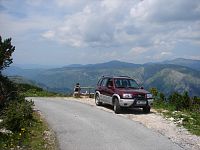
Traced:
[[155, 98], [153, 107], [158, 112], [178, 126], [200, 136], [200, 97], [189, 97], [188, 92], [174, 92], [166, 97], [156, 88], [151, 88], [150, 91]]

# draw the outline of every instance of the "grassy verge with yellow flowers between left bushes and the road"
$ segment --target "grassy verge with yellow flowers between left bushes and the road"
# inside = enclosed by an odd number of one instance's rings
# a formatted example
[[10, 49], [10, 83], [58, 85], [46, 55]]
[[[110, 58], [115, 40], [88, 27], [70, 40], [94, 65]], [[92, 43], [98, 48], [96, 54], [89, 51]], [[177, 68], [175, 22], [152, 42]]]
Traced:
[[34, 112], [32, 126], [22, 129], [20, 133], [1, 133], [0, 149], [24, 149], [24, 150], [56, 150], [58, 149], [55, 135], [48, 128], [47, 123]]

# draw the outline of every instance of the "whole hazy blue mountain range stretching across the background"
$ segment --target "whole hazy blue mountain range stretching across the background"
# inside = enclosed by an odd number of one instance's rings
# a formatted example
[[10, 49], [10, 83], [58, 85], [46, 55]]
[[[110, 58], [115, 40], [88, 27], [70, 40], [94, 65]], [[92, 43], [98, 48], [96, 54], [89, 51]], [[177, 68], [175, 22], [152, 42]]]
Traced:
[[200, 71], [195, 70], [192, 66], [196, 65], [183, 66], [176, 63], [172, 64], [169, 61], [143, 65], [111, 61], [43, 70], [20, 68], [12, 70], [12, 67], [10, 67], [4, 73], [21, 75], [45, 85], [51, 91], [62, 93], [72, 92], [77, 82], [81, 86], [95, 87], [102, 75], [127, 75], [136, 79], [145, 88], [156, 87], [167, 95], [174, 91], [183, 92], [186, 90], [191, 96], [200, 96]]

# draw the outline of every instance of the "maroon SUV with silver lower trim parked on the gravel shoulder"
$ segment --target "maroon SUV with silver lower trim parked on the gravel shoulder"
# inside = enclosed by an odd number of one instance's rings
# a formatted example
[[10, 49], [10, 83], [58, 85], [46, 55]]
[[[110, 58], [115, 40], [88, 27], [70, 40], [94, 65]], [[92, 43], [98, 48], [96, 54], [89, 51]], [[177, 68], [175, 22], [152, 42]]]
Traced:
[[102, 77], [95, 90], [95, 103], [114, 106], [114, 112], [121, 108], [139, 107], [149, 113], [153, 102], [152, 94], [140, 88], [137, 82], [127, 76]]

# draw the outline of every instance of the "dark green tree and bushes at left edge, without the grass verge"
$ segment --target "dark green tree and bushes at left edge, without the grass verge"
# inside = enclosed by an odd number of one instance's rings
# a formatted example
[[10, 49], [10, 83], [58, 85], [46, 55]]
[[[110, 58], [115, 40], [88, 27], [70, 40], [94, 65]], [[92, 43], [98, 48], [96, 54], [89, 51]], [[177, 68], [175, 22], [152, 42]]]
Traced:
[[34, 121], [33, 102], [25, 100], [19, 92], [20, 88], [2, 75], [3, 69], [12, 63], [14, 50], [11, 38], [2, 40], [0, 36], [0, 119], [3, 119], [0, 129], [5, 128], [13, 132], [0, 132], [0, 149], [14, 149], [13, 144], [22, 146], [26, 131]]

